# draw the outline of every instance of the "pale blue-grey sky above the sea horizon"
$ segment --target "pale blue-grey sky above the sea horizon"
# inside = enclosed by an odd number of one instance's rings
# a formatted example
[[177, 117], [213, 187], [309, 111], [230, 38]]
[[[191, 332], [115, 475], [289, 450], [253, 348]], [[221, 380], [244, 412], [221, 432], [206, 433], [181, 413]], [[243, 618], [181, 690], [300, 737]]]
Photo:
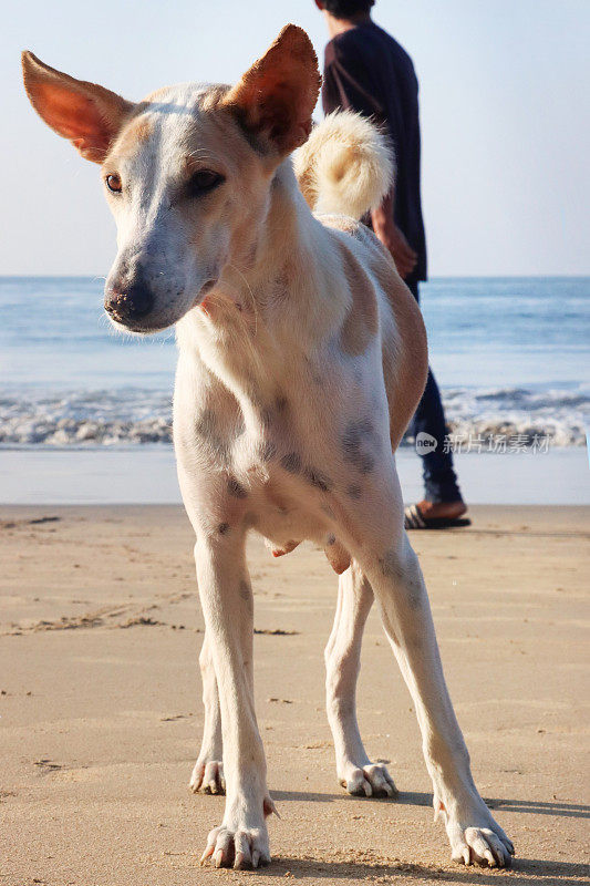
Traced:
[[[590, 274], [588, 0], [377, 0], [374, 19], [421, 82], [431, 275]], [[115, 254], [99, 167], [30, 107], [21, 49], [141, 99], [166, 83], [235, 81], [289, 21], [322, 61], [313, 0], [10, 3], [0, 275], [106, 275]]]

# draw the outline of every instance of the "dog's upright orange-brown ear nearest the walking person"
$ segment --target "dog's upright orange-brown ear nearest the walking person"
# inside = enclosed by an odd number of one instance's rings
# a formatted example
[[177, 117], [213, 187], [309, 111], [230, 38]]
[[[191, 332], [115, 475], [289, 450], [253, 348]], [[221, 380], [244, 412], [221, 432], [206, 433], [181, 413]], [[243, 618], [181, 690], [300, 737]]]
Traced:
[[288, 24], [227, 93], [224, 105], [280, 154], [290, 154], [311, 132], [320, 83], [311, 40], [302, 28]]

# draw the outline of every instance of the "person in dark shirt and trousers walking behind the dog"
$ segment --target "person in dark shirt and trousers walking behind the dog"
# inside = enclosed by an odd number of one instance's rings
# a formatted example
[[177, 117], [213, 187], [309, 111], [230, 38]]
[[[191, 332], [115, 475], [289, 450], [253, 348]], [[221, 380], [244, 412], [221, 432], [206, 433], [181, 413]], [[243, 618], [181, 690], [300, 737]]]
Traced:
[[[327, 114], [348, 109], [372, 117], [391, 136], [395, 184], [366, 222], [418, 300], [418, 285], [426, 279], [418, 82], [410, 55], [372, 20], [373, 4], [374, 0], [315, 0], [331, 38], [325, 47], [322, 103]], [[453, 456], [444, 446], [445, 414], [431, 371], [411, 429], [423, 460], [425, 495], [422, 502], [406, 507], [406, 528], [467, 525]]]

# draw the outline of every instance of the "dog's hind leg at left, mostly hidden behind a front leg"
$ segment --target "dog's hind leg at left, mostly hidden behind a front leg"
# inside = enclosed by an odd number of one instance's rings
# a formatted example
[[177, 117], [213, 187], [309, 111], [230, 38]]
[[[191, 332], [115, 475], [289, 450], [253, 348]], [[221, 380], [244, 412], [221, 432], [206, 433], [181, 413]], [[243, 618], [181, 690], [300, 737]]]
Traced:
[[217, 678], [207, 630], [205, 631], [199, 655], [199, 667], [203, 680], [205, 725], [200, 752], [190, 776], [189, 786], [194, 793], [201, 790], [207, 794], [224, 794], [226, 782], [222, 763], [221, 710], [219, 708]]

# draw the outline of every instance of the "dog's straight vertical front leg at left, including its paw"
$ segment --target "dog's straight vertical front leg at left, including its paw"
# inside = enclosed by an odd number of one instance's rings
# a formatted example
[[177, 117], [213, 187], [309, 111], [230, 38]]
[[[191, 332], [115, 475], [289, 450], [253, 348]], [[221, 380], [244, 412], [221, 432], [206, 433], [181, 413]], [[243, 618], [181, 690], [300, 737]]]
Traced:
[[252, 689], [252, 594], [245, 539], [198, 536], [199, 595], [221, 710], [226, 810], [203, 859], [217, 867], [257, 867], [270, 861], [266, 815], [272, 810]]

